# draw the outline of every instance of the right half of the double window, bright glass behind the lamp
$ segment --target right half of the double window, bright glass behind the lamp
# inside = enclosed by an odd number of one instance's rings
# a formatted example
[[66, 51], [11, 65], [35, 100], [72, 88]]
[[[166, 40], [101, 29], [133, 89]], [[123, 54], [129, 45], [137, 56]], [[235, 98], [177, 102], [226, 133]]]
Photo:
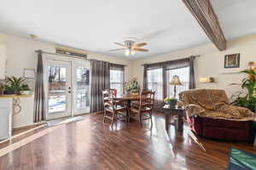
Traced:
[[[182, 86], [176, 86], [177, 94], [183, 92], [184, 90], [189, 89], [189, 66], [183, 68], [176, 68], [166, 70], [166, 87], [167, 87], [167, 95], [166, 97], [173, 97], [174, 86], [169, 84], [172, 81], [172, 77], [177, 75], [179, 77], [180, 82], [182, 82]], [[178, 95], [176, 96], [178, 98]]]

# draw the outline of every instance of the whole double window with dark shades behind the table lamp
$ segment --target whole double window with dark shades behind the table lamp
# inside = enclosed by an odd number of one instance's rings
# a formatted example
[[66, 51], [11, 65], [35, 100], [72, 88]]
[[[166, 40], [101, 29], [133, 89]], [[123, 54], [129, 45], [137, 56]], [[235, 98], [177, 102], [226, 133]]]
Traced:
[[[174, 97], [174, 86], [170, 82], [172, 82], [172, 77], [175, 75], [182, 82], [181, 86], [176, 86], [177, 94], [189, 89], [189, 64], [193, 65], [193, 63], [190, 63], [190, 59], [177, 59], [144, 65], [144, 81], [147, 82], [145, 88], [155, 91], [155, 99], [161, 105], [164, 98]], [[176, 95], [176, 98], [178, 98], [178, 95]]]

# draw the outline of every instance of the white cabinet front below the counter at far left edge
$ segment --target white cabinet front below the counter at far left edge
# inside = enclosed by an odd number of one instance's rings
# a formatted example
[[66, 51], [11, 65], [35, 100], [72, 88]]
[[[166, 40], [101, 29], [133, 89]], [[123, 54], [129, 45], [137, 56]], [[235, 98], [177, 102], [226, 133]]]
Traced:
[[11, 136], [13, 99], [0, 99], [0, 140]]

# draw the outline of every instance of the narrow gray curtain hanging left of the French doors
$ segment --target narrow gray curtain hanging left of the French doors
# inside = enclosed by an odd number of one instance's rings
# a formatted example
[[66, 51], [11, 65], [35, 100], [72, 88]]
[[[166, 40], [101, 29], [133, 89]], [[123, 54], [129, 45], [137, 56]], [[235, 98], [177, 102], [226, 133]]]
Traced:
[[38, 68], [34, 99], [34, 122], [45, 120], [44, 66], [42, 51], [38, 52]]

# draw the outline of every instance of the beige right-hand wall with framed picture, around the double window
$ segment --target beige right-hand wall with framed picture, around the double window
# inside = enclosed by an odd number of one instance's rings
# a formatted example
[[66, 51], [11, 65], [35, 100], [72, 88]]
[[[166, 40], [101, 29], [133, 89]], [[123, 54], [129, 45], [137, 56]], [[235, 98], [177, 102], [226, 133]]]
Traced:
[[[224, 69], [225, 54], [241, 54], [240, 68]], [[243, 74], [225, 75], [224, 73], [234, 73], [247, 68], [249, 61], [256, 61], [256, 35], [237, 38], [227, 42], [227, 50], [218, 51], [212, 43], [186, 48], [172, 53], [154, 56], [147, 59], [139, 59], [132, 62], [132, 75], [137, 77], [143, 85], [143, 64], [167, 61], [172, 59], [182, 59], [190, 55], [201, 55], [195, 59], [195, 77], [197, 88], [221, 88], [229, 94], [233, 94], [240, 88], [230, 86], [231, 82], [241, 82]], [[217, 83], [201, 83], [200, 77], [215, 77]]]

